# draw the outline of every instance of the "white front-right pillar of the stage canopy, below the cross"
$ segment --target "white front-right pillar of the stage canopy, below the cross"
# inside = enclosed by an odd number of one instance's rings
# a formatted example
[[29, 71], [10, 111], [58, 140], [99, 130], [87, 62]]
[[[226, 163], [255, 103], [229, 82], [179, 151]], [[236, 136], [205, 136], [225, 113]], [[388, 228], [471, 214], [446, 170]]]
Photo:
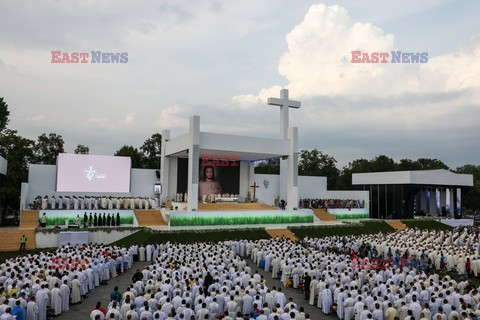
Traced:
[[298, 207], [298, 128], [288, 128], [287, 210]]

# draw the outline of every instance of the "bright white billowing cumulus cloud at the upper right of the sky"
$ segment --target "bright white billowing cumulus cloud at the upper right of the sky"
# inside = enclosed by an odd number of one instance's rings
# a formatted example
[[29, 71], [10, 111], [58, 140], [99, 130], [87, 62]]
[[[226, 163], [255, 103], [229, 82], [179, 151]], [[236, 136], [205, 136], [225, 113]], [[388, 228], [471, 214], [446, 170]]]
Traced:
[[[426, 64], [351, 63], [351, 51], [390, 53], [402, 48], [396, 48], [394, 36], [381, 28], [352, 21], [345, 8], [318, 4], [310, 7], [286, 41], [288, 51], [280, 58], [278, 71], [287, 79], [291, 95], [302, 99], [321, 95], [387, 97], [480, 85], [480, 37], [458, 52], [430, 57]], [[265, 101], [266, 93], [271, 95], [277, 89], [235, 96], [233, 101]]]

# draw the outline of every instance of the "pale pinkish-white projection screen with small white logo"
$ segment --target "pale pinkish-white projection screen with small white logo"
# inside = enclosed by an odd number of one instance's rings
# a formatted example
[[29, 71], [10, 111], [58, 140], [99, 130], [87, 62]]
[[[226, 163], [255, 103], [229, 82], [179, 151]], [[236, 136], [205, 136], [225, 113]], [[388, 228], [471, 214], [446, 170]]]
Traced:
[[61, 153], [57, 192], [130, 192], [130, 157]]

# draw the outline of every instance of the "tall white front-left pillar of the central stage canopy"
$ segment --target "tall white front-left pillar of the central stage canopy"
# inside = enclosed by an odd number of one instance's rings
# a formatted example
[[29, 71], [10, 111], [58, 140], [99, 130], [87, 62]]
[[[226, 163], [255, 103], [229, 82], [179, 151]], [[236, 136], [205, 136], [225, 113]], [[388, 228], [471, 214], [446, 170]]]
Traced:
[[190, 117], [188, 147], [188, 211], [198, 209], [198, 166], [200, 161], [200, 117]]

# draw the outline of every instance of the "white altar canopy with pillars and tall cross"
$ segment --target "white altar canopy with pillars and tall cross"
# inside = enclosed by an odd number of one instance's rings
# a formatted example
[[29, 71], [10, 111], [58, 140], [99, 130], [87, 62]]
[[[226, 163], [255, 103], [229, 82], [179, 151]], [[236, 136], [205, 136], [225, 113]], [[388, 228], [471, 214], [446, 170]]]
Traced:
[[[200, 117], [190, 117], [188, 133], [170, 139], [170, 131], [162, 131], [161, 181], [162, 201], [174, 197], [178, 158], [188, 158], [187, 210], [198, 210], [199, 159], [202, 154], [221, 158], [236, 156], [242, 159], [261, 157], [282, 159], [280, 164], [280, 196], [287, 202], [287, 210], [298, 206], [298, 128], [288, 127], [288, 108], [299, 108], [300, 102], [288, 99], [288, 90], [280, 92], [281, 98], [270, 98], [269, 104], [280, 106], [280, 139], [246, 137], [200, 131]], [[240, 195], [245, 195], [254, 183], [254, 162], [240, 166]], [[247, 179], [242, 179], [242, 176]], [[285, 181], [282, 183], [282, 180]], [[282, 196], [285, 195], [285, 196]]]

